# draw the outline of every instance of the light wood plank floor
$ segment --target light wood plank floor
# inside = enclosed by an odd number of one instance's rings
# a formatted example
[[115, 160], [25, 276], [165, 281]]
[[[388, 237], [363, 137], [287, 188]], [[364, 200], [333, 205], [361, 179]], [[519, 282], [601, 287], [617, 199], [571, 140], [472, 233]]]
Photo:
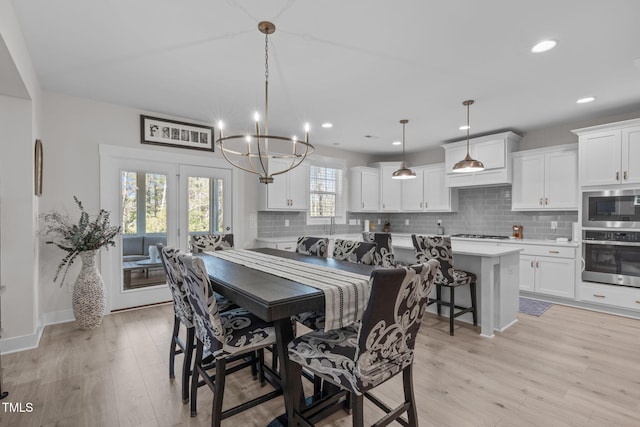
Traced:
[[[209, 390], [201, 389], [199, 414], [190, 418], [179, 379], [168, 378], [172, 317], [163, 305], [109, 315], [91, 332], [48, 326], [38, 349], [3, 357], [8, 401], [34, 410], [7, 413], [0, 405], [0, 425], [209, 425]], [[421, 426], [640, 426], [640, 321], [559, 305], [518, 319], [487, 339], [466, 325], [451, 337], [446, 319], [426, 315], [414, 377]], [[263, 391], [244, 372], [227, 387], [225, 407]], [[378, 395], [396, 400], [400, 382]], [[265, 426], [282, 411], [278, 398], [223, 425]], [[379, 411], [365, 416], [371, 423]], [[351, 418], [338, 413], [322, 425]]]

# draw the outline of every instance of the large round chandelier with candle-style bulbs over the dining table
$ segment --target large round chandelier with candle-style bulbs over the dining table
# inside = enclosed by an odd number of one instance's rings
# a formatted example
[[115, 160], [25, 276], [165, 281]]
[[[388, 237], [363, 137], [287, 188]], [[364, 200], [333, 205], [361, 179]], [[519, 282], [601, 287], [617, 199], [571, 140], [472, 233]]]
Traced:
[[[305, 139], [297, 137], [269, 135], [269, 34], [276, 31], [276, 26], [271, 22], [262, 21], [258, 29], [265, 35], [265, 62], [264, 62], [264, 132], [260, 132], [260, 116], [255, 114], [255, 135], [230, 135], [222, 133], [222, 122], [219, 123], [220, 138], [216, 145], [220, 147], [222, 155], [238, 169], [255, 173], [260, 176], [262, 184], [273, 182], [275, 175], [280, 175], [297, 167], [304, 161], [307, 155], [314, 150], [309, 144], [309, 124], [305, 125]], [[272, 165], [271, 160], [282, 159]], [[278, 169], [270, 166], [277, 166]]]

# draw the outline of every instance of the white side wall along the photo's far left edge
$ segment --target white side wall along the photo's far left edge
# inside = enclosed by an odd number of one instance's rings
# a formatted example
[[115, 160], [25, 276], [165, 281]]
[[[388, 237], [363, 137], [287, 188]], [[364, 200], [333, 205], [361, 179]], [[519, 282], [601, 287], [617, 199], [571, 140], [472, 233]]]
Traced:
[[[42, 94], [9, 0], [0, 0], [4, 70], [0, 75], [0, 203], [3, 352], [37, 344], [41, 331], [38, 295], [38, 198], [33, 195], [34, 143], [40, 138]], [[5, 96], [5, 95], [11, 96]]]

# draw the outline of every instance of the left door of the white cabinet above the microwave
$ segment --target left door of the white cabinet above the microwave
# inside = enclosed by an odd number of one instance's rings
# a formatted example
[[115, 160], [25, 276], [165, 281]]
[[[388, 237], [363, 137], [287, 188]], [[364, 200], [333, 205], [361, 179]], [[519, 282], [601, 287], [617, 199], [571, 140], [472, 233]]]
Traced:
[[619, 184], [622, 178], [620, 130], [580, 137], [580, 170], [582, 185]]

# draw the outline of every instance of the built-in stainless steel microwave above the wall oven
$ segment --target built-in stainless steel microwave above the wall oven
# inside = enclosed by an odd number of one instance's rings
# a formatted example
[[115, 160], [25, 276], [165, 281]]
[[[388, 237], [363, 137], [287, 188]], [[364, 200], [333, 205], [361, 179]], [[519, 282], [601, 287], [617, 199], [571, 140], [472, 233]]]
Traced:
[[640, 189], [582, 193], [582, 225], [640, 228]]

